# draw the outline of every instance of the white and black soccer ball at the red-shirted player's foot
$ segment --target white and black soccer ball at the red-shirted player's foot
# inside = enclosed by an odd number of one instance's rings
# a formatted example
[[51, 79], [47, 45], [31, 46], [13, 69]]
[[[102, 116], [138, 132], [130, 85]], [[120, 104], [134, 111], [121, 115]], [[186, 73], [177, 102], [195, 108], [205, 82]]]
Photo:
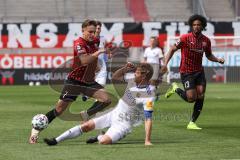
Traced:
[[44, 114], [37, 114], [32, 119], [32, 126], [34, 129], [43, 130], [48, 126], [48, 118]]

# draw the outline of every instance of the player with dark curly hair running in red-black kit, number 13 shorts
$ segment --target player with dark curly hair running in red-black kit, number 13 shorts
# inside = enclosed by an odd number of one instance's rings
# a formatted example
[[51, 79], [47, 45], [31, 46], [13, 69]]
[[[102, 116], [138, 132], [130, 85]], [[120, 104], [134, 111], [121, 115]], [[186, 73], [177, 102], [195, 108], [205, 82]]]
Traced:
[[207, 20], [201, 15], [193, 15], [189, 18], [188, 24], [191, 32], [184, 34], [180, 40], [171, 47], [165, 59], [165, 70], [169, 60], [175, 51], [181, 49], [180, 73], [184, 90], [180, 89], [176, 83], [172, 83], [171, 88], [166, 92], [165, 97], [169, 98], [177, 93], [187, 102], [195, 102], [191, 121], [187, 129], [201, 129], [196, 125], [196, 120], [200, 115], [204, 102], [206, 89], [206, 79], [202, 66], [202, 57], [205, 53], [208, 60], [223, 64], [223, 58], [217, 58], [212, 54], [211, 42], [208, 37], [202, 34], [207, 26]]

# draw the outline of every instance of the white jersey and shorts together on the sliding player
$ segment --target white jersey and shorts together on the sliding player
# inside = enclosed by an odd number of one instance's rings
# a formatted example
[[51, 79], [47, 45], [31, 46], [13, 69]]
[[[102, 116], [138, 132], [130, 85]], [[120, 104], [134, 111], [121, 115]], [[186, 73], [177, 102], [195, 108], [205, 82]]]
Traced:
[[131, 132], [133, 126], [141, 124], [144, 120], [144, 109], [152, 110], [154, 89], [155, 87], [151, 85], [140, 88], [133, 79], [129, 80], [116, 108], [93, 119], [95, 129], [110, 127], [105, 134], [111, 138], [112, 143], [125, 137]]

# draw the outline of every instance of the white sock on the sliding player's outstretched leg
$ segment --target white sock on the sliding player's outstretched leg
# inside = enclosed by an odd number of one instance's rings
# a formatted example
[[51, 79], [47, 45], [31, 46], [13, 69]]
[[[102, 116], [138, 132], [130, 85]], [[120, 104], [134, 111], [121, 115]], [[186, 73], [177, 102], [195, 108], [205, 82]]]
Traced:
[[82, 129], [79, 125], [65, 131], [63, 134], [56, 138], [57, 142], [64, 141], [65, 139], [75, 138], [82, 134]]

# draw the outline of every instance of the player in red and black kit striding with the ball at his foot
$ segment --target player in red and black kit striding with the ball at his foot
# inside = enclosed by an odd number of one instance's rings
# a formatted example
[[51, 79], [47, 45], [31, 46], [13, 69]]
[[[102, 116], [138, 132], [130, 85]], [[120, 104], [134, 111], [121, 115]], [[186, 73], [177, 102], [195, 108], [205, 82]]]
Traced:
[[[89, 116], [93, 116], [111, 103], [107, 92], [94, 80], [98, 56], [106, 52], [105, 49], [98, 49], [99, 39], [95, 37], [96, 26], [94, 20], [85, 20], [82, 23], [83, 36], [74, 42], [72, 69], [64, 83], [55, 108], [46, 114], [48, 123], [60, 116], [76, 100], [79, 94], [98, 100], [87, 111], [80, 113], [80, 120], [87, 120]], [[39, 132], [39, 130], [32, 129], [29, 143], [37, 143]]]

